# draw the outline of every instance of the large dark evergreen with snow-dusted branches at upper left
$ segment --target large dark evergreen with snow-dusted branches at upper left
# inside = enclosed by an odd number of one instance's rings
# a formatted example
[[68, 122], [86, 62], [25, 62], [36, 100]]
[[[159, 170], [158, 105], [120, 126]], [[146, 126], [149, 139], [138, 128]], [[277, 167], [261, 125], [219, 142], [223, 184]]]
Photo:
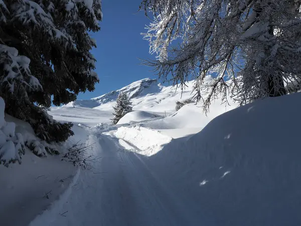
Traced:
[[0, 0], [0, 96], [9, 115], [47, 142], [73, 132], [45, 109], [98, 82], [88, 31], [98, 31], [101, 19], [101, 0]]

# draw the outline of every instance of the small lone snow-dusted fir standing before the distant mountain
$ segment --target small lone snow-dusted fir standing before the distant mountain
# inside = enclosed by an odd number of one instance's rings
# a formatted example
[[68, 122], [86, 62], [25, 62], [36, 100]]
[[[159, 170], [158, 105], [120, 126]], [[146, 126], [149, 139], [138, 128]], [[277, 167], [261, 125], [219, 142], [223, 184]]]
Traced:
[[131, 102], [125, 92], [119, 93], [116, 102], [116, 105], [113, 106], [115, 110], [115, 113], [113, 113], [114, 118], [112, 119], [113, 125], [116, 125], [123, 116], [132, 111]]

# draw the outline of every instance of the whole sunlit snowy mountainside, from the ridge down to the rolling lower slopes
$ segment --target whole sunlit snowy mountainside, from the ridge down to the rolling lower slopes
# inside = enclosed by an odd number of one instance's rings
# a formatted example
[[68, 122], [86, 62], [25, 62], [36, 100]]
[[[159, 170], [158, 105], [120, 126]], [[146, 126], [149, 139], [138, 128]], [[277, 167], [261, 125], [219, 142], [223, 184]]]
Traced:
[[[208, 76], [205, 80], [205, 85], [211, 81], [212, 77]], [[99, 123], [109, 124], [110, 119], [113, 117], [113, 106], [116, 104], [117, 95], [123, 91], [131, 97], [130, 101], [134, 111], [126, 115], [118, 124], [141, 122], [147, 119], [160, 120], [161, 118], [158, 117], [171, 115], [171, 117], [165, 118], [160, 127], [158, 125], [148, 125], [151, 128], [154, 127], [154, 129], [171, 129], [170, 127], [173, 127], [172, 122], [184, 117], [187, 113], [182, 110], [176, 113], [176, 101], [191, 98], [193, 95], [193, 84], [193, 81], [187, 82], [185, 89], [181, 90], [171, 85], [163, 86], [156, 79], [145, 78], [99, 97], [76, 100], [62, 107], [53, 107], [49, 113], [60, 121], [71, 121], [76, 125], [81, 124], [92, 127]], [[205, 91], [203, 91], [203, 94], [204, 96], [207, 95]], [[189, 105], [188, 115], [193, 117], [187, 117], [185, 121], [178, 122], [176, 127], [183, 129], [183, 131], [186, 130], [187, 133], [192, 133], [189, 131], [200, 131], [204, 127], [205, 122], [208, 123], [223, 112], [237, 107], [237, 103], [234, 103], [231, 99], [229, 99], [229, 105], [222, 104], [221, 99], [216, 99], [212, 102], [210, 112], [206, 116], [201, 107], [202, 103]], [[196, 118], [198, 120], [195, 120]]]

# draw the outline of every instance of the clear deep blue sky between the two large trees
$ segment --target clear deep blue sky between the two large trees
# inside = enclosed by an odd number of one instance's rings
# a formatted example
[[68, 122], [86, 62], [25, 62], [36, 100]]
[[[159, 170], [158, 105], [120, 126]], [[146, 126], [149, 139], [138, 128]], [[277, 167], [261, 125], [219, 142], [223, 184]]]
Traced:
[[78, 99], [88, 99], [116, 90], [142, 78], [157, 78], [149, 72], [151, 67], [142, 66], [138, 58], [153, 58], [148, 53], [149, 46], [140, 33], [146, 32], [149, 19], [144, 12], [137, 12], [140, 0], [103, 0], [103, 20], [101, 30], [93, 33], [97, 48], [95, 56], [96, 72], [100, 82], [94, 92], [78, 95]]

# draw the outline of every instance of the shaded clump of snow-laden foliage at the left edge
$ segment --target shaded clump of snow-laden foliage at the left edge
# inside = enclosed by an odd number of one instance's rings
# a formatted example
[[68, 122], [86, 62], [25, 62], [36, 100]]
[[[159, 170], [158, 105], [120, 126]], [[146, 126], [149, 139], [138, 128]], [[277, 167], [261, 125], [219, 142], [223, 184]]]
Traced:
[[25, 149], [22, 135], [15, 134], [15, 123], [5, 121], [4, 109], [5, 102], [0, 97], [0, 164], [8, 166], [11, 162], [21, 163]]

